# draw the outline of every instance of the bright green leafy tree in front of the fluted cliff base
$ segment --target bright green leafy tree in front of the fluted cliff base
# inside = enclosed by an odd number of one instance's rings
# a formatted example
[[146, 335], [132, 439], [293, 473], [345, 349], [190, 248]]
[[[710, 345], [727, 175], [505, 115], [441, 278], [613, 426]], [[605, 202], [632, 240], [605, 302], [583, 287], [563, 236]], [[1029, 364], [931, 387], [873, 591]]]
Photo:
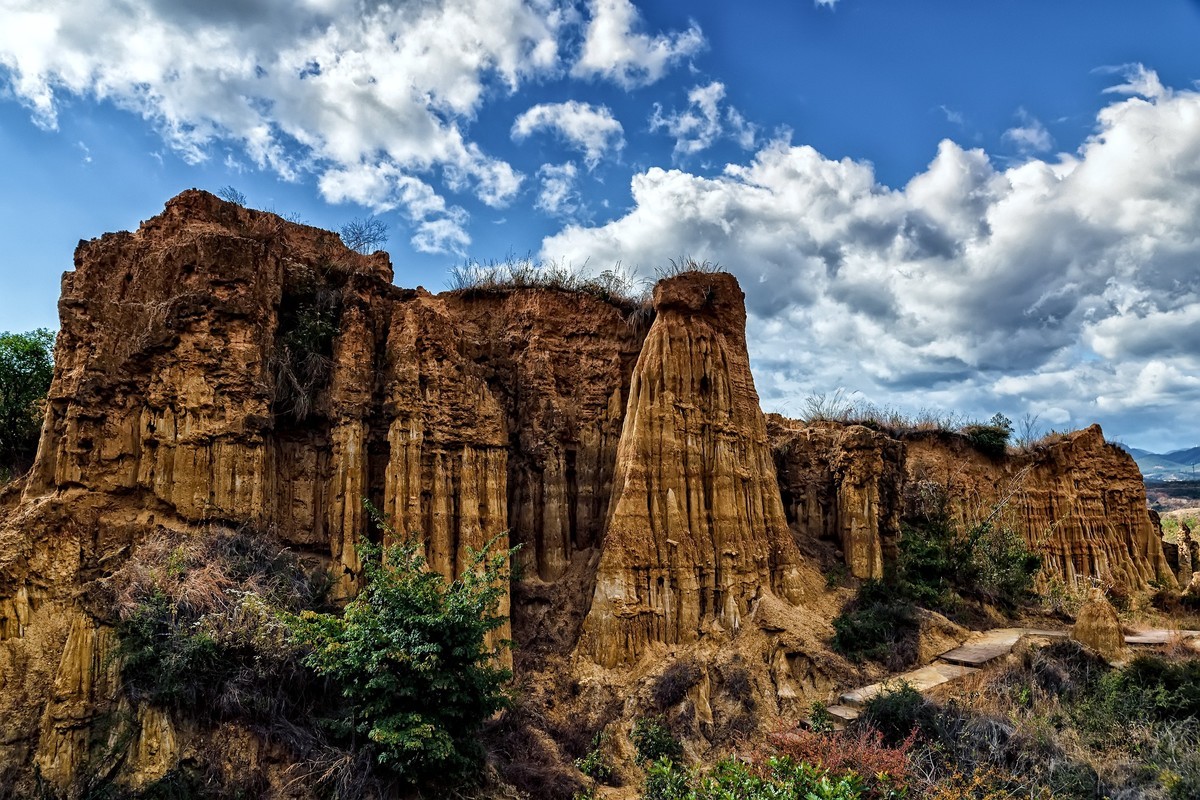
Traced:
[[365, 585], [344, 613], [292, 620], [311, 648], [306, 663], [349, 702], [337, 733], [403, 782], [478, 775], [482, 723], [508, 705], [511, 673], [498, 663], [508, 643], [490, 646], [488, 637], [505, 621], [498, 610], [511, 551], [490, 553], [491, 545], [448, 583], [414, 542], [362, 542]]

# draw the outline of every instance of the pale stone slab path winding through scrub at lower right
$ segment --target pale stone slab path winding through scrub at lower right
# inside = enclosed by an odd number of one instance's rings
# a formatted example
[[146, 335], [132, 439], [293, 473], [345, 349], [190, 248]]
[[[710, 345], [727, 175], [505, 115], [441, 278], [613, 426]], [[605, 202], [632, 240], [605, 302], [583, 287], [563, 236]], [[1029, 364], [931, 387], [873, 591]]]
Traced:
[[[844, 692], [835, 705], [826, 709], [833, 717], [834, 730], [842, 730], [858, 718], [869, 699], [884, 691], [890, 691], [901, 682], [910, 684], [919, 692], [926, 692], [952, 680], [979, 672], [985, 664], [1007, 656], [1026, 636], [1048, 639], [1066, 639], [1067, 631], [1044, 631], [1036, 627], [997, 627], [990, 631], [973, 633], [961, 645], [937, 656], [932, 663], [918, 669], [893, 675], [886, 681]], [[1126, 644], [1148, 646], [1166, 644], [1175, 637], [1200, 639], [1200, 631], [1170, 631], [1152, 628], [1126, 636]]]

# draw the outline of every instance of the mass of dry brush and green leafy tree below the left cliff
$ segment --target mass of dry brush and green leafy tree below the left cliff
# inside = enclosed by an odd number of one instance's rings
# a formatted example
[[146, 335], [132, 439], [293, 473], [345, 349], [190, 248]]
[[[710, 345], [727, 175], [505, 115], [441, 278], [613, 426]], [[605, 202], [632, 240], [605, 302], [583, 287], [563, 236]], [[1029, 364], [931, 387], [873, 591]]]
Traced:
[[[257, 732], [290, 753], [293, 778], [320, 796], [478, 781], [482, 724], [508, 703], [510, 674], [497, 660], [508, 643], [490, 637], [505, 621], [510, 553], [474, 554], [451, 582], [426, 567], [415, 542], [364, 542], [359, 553], [361, 591], [338, 612], [324, 600], [324, 572], [263, 531], [142, 542], [112, 579], [126, 694], [200, 726]], [[180, 796], [257, 792], [221, 786], [214, 764], [181, 769], [152, 790], [199, 782], [210, 790]]]

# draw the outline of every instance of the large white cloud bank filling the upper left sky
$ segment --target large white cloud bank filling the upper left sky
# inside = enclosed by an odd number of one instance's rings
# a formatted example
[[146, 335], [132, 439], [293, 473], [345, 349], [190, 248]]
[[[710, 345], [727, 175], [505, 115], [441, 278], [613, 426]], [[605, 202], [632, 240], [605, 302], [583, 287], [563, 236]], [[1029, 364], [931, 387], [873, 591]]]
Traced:
[[468, 241], [466, 217], [432, 180], [492, 206], [516, 196], [522, 176], [464, 131], [488, 91], [563, 68], [569, 10], [552, 0], [6, 0], [0, 73], [46, 128], [64, 96], [110, 101], [190, 162], [233, 143], [284, 179], [314, 174], [331, 201], [401, 207], [416, 247], [452, 249]]

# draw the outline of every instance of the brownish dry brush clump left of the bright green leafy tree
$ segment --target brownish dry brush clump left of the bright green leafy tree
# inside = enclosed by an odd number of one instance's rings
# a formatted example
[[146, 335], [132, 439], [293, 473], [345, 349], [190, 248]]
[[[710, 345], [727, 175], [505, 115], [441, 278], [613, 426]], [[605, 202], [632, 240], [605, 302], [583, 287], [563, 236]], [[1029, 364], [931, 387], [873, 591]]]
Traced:
[[325, 583], [277, 541], [250, 529], [161, 531], [112, 583], [131, 698], [210, 720], [296, 710], [284, 706], [310, 681], [275, 610], [319, 602]]

